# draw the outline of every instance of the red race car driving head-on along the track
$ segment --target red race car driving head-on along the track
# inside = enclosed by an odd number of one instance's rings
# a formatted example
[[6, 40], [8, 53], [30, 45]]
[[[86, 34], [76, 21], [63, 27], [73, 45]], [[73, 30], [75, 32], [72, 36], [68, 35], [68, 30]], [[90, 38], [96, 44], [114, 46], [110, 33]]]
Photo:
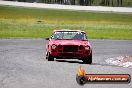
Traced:
[[86, 33], [80, 30], [54, 30], [50, 38], [46, 38], [46, 59], [79, 59], [84, 63], [92, 63], [92, 48]]

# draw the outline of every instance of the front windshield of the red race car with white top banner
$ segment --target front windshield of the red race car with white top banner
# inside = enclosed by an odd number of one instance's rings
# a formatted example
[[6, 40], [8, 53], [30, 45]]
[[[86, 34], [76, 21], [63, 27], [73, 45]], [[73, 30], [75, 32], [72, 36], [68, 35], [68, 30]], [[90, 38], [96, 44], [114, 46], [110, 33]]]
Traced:
[[83, 32], [58, 31], [54, 32], [51, 39], [55, 40], [86, 40], [86, 34]]

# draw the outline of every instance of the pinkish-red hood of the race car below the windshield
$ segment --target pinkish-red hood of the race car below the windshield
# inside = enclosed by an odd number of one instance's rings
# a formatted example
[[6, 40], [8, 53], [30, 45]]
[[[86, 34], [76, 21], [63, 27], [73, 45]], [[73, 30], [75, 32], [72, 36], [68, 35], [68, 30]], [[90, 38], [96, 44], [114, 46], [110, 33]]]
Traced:
[[82, 40], [50, 40], [53, 44], [56, 45], [90, 45], [89, 41]]

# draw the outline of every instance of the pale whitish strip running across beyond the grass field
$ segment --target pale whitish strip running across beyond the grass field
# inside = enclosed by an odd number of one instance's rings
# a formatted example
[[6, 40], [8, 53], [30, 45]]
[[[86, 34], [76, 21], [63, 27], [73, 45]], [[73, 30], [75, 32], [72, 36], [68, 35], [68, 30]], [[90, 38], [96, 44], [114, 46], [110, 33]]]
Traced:
[[63, 10], [107, 11], [107, 12], [132, 13], [132, 8], [131, 7], [58, 5], [58, 4], [27, 3], [27, 2], [1, 1], [1, 0], [0, 0], [0, 5], [36, 7], [36, 8], [49, 8], [49, 9], [63, 9]]

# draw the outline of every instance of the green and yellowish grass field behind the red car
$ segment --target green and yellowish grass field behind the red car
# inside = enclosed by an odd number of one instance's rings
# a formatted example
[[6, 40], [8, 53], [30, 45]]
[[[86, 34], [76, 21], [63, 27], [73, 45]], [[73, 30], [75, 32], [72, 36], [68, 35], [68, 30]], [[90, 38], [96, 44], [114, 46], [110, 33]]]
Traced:
[[0, 6], [0, 38], [45, 38], [54, 29], [81, 29], [92, 39], [132, 40], [132, 14]]

